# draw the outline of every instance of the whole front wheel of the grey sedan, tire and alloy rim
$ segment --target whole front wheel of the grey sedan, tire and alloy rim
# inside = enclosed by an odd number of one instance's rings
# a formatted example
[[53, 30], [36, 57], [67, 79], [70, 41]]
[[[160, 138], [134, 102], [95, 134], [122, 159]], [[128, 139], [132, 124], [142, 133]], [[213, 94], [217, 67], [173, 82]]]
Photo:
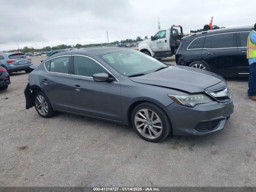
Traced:
[[155, 104], [142, 103], [132, 112], [132, 125], [138, 135], [146, 141], [164, 140], [171, 130], [170, 120]]

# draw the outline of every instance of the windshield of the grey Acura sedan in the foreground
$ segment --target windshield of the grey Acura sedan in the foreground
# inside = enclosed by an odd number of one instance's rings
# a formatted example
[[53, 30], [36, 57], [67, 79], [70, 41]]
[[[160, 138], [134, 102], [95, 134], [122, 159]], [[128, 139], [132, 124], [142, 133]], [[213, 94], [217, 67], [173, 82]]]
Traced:
[[100, 57], [126, 77], [136, 74], [148, 74], [166, 67], [166, 64], [155, 58], [132, 49], [118, 50], [102, 54]]

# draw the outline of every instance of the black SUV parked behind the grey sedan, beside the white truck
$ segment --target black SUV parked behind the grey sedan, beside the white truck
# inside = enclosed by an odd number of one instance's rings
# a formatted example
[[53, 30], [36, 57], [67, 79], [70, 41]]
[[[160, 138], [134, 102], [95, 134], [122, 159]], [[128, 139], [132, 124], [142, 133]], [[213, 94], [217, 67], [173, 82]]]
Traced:
[[247, 37], [252, 26], [200, 32], [182, 38], [176, 64], [209, 70], [225, 77], [249, 74]]

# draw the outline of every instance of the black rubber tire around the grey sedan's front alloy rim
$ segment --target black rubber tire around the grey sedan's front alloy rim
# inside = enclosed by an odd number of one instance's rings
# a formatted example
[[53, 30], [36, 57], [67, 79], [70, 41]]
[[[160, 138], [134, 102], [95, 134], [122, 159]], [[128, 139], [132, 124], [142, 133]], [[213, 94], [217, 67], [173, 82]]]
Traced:
[[[134, 118], [135, 118], [136, 113], [141, 109], [152, 110], [154, 113], [156, 113], [159, 116], [160, 120], [162, 121], [162, 132], [161, 132], [160, 136], [158, 136], [157, 138], [154, 138], [154, 139], [146, 138], [145, 136], [140, 134], [140, 132], [136, 128]], [[160, 142], [160, 141], [164, 140], [170, 134], [170, 132], [172, 131], [172, 125], [171, 125], [170, 119], [168, 118], [168, 116], [164, 112], [164, 110], [162, 110], [162, 108], [160, 108], [156, 104], [152, 104], [152, 103], [149, 103], [149, 102], [144, 102], [144, 103], [139, 104], [138, 106], [136, 106], [134, 108], [133, 112], [132, 112], [131, 120], [132, 120], [132, 126], [133, 126], [134, 130], [136, 131], [136, 133], [142, 139], [144, 139], [146, 141], [149, 141], [149, 142], [155, 142], [155, 143]]]

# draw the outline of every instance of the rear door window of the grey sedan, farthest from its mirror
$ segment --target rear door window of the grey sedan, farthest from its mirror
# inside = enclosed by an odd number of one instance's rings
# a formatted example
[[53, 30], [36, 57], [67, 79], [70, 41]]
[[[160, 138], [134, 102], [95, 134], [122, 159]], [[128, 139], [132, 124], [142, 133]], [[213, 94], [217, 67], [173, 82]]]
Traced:
[[44, 63], [49, 72], [68, 74], [70, 56], [57, 57]]

